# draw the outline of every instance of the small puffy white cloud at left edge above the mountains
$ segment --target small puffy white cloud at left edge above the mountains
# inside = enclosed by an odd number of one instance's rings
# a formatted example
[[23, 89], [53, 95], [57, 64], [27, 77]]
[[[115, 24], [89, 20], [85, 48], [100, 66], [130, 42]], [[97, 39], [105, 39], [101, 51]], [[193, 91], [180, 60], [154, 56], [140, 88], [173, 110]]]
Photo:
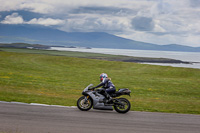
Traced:
[[19, 16], [18, 13], [13, 13], [11, 15], [8, 15], [5, 17], [3, 21], [1, 21], [2, 24], [23, 24], [24, 20], [22, 16]]

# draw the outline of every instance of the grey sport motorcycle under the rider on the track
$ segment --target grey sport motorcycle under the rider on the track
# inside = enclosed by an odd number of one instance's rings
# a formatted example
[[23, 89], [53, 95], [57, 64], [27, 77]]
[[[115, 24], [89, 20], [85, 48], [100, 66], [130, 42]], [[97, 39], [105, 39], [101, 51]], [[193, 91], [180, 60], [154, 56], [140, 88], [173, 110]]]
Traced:
[[130, 96], [131, 90], [119, 89], [115, 93], [111, 94], [112, 97], [111, 101], [107, 102], [105, 100], [105, 96], [100, 94], [101, 89], [91, 89], [93, 84], [88, 85], [82, 92], [82, 97], [80, 97], [77, 101], [77, 106], [81, 111], [88, 111], [92, 107], [93, 109], [99, 110], [113, 110], [118, 113], [127, 113], [130, 108], [131, 104], [126, 98], [116, 98], [121, 95], [128, 95]]

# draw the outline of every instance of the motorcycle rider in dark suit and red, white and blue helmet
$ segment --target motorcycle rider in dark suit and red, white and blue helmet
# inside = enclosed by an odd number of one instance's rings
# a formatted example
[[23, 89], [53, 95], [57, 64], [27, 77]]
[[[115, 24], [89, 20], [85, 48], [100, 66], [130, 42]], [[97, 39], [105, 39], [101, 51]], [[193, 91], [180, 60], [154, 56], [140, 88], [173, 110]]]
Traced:
[[102, 89], [99, 89], [100, 93], [105, 96], [106, 102], [110, 102], [112, 100], [110, 94], [115, 93], [115, 85], [111, 82], [111, 78], [108, 78], [108, 75], [106, 73], [100, 74], [100, 81], [101, 83], [97, 85], [95, 88], [102, 87]]

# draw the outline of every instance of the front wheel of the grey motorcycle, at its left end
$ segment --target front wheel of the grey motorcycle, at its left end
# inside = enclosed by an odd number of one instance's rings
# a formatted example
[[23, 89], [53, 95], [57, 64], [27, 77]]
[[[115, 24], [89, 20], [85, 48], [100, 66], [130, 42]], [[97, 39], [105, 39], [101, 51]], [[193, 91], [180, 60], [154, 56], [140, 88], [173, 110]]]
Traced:
[[77, 107], [82, 111], [88, 111], [92, 108], [92, 100], [91, 98], [86, 98], [86, 96], [82, 96], [77, 101]]

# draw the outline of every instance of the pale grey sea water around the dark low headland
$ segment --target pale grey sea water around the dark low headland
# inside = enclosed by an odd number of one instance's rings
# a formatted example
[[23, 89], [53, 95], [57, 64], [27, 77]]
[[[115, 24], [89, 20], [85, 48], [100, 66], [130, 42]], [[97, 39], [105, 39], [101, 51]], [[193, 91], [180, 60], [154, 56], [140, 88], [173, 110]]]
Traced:
[[134, 57], [169, 58], [169, 59], [176, 59], [176, 60], [188, 61], [188, 62], [194, 62], [194, 63], [192, 64], [144, 63], [144, 64], [200, 69], [200, 52], [176, 52], [176, 51], [105, 49], [105, 48], [86, 49], [86, 48], [64, 48], [64, 47], [51, 47], [51, 50], [78, 51], [78, 52], [102, 53], [102, 54], [112, 54], [112, 55], [126, 55], [126, 56], [134, 56]]

